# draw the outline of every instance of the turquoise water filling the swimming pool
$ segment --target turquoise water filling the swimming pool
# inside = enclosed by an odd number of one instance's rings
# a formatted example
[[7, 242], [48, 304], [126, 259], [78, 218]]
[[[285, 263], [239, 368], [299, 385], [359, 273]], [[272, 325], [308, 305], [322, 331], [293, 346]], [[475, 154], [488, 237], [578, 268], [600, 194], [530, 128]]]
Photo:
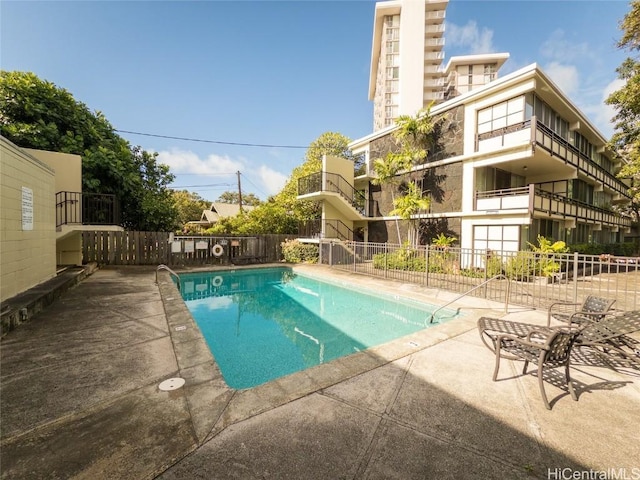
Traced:
[[[227, 384], [250, 388], [425, 328], [434, 306], [258, 268], [180, 276]], [[455, 316], [438, 312], [442, 322]]]

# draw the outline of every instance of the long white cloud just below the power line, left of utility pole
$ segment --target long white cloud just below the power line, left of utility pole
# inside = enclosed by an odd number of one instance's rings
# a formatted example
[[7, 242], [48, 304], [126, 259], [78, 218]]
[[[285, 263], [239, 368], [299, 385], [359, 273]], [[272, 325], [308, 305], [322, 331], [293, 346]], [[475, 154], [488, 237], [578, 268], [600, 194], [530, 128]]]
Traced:
[[168, 165], [175, 174], [220, 175], [242, 171], [245, 167], [241, 160], [234, 160], [226, 155], [211, 154], [206, 158], [200, 158], [192, 151], [177, 148], [158, 152], [158, 163]]

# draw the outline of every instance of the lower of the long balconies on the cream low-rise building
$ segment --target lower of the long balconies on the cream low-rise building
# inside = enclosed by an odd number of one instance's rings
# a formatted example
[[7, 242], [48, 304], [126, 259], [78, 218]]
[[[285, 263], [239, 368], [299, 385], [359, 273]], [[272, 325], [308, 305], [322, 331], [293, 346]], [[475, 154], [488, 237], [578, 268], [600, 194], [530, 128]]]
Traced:
[[556, 219], [575, 219], [584, 223], [609, 225], [611, 227], [630, 227], [631, 219], [589, 205], [572, 198], [545, 192], [535, 184], [527, 187], [507, 188], [476, 192], [475, 210], [488, 213], [509, 213], [513, 210], [526, 210], [531, 216], [536, 212]]

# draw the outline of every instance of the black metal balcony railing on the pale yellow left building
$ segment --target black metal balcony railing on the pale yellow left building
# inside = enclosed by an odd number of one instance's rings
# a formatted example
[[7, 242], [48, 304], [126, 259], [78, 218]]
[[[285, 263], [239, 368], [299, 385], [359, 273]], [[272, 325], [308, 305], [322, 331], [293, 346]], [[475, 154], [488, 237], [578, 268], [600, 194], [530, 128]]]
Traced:
[[97, 193], [56, 193], [56, 227], [70, 224], [119, 225], [118, 199]]

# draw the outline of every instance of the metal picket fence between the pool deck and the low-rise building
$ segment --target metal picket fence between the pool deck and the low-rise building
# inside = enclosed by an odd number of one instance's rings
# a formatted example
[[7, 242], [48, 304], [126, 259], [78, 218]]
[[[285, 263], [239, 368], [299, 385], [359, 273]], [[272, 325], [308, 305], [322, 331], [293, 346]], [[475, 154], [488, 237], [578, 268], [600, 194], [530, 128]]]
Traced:
[[640, 258], [531, 251], [497, 252], [387, 243], [320, 242], [320, 262], [363, 275], [545, 308], [587, 295], [616, 300], [614, 308], [640, 308]]

